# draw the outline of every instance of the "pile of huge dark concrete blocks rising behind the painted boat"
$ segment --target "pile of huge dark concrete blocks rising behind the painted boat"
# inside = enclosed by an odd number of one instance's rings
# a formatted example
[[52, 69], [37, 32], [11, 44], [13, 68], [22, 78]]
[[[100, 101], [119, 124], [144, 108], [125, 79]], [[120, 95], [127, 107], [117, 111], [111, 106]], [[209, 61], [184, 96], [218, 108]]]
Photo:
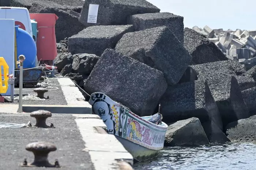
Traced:
[[90, 3], [97, 1], [85, 1], [79, 16], [86, 28], [57, 44], [61, 74], [139, 116], [161, 104], [166, 146], [233, 141], [230, 123], [255, 112], [255, 68], [246, 71], [202, 33], [184, 28], [182, 16], [159, 13], [147, 1], [102, 1], [97, 23], [86, 22]]

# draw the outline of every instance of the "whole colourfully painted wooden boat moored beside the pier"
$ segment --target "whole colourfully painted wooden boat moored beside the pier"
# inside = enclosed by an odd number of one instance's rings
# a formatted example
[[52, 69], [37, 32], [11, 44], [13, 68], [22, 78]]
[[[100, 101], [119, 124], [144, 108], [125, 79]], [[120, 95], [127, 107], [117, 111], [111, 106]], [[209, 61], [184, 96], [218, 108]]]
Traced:
[[108, 134], [114, 134], [136, 161], [156, 157], [163, 149], [167, 130], [164, 122], [151, 123], [151, 116], [140, 117], [103, 93], [91, 94], [89, 103], [106, 124]]

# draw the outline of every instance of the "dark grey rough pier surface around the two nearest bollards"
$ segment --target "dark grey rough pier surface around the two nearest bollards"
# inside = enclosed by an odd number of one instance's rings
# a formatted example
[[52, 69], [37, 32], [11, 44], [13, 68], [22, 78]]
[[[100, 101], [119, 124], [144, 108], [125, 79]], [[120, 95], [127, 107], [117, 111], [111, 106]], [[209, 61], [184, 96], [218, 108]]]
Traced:
[[[29, 114], [1, 114], [0, 122], [5, 123], [28, 123], [35, 124], [35, 118]], [[75, 117], [71, 115], [52, 115], [46, 119], [46, 123], [54, 124], [55, 128], [35, 128], [25, 127], [18, 129], [0, 130], [0, 163], [1, 169], [13, 170], [39, 170], [44, 167], [20, 167], [24, 158], [28, 163], [33, 162], [34, 155], [25, 149], [31, 142], [46, 141], [56, 145], [57, 150], [49, 154], [48, 160], [54, 163], [58, 159], [61, 169], [88, 169], [93, 170], [88, 151], [84, 150], [84, 141], [75, 122]]]

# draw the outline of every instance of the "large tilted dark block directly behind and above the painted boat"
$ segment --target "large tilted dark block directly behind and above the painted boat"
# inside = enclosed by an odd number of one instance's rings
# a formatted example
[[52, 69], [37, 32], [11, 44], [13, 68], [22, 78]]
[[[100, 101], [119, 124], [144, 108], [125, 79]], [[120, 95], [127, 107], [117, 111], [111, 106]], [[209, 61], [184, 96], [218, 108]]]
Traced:
[[102, 92], [139, 116], [152, 115], [167, 88], [163, 73], [107, 49], [84, 82], [89, 94]]

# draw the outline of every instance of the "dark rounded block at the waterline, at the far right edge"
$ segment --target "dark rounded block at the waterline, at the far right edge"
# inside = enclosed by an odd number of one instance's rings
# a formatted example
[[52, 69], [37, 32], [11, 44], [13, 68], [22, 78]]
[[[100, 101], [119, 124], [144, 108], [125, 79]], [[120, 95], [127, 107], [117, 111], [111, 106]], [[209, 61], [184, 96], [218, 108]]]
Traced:
[[226, 134], [231, 142], [256, 141], [256, 116], [231, 122], [226, 126]]

